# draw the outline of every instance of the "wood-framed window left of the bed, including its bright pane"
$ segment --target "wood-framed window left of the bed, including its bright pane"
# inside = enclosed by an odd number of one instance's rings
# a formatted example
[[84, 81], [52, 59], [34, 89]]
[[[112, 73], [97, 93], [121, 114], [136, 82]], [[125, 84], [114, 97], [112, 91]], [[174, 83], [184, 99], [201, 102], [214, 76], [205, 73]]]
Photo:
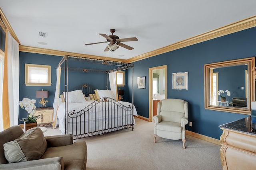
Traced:
[[25, 64], [26, 86], [51, 86], [51, 66]]

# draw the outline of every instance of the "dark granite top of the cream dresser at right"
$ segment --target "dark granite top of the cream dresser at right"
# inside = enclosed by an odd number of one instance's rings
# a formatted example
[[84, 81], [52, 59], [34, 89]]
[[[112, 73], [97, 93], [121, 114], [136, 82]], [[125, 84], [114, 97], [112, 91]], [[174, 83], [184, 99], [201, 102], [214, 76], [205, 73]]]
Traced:
[[250, 116], [237, 121], [232, 121], [230, 123], [220, 125], [219, 127], [223, 129], [230, 129], [233, 131], [250, 134], [250, 135], [256, 135], [256, 131], [252, 131]]

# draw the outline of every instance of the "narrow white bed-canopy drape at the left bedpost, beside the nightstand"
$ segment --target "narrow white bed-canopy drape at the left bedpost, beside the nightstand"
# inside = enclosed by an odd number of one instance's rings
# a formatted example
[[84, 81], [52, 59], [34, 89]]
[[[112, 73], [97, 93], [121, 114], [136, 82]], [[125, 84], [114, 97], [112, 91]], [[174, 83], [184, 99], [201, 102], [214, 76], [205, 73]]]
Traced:
[[55, 89], [55, 96], [54, 96], [54, 102], [53, 102], [53, 123], [52, 127], [56, 128], [58, 124], [58, 119], [57, 119], [57, 110], [58, 110], [58, 102], [59, 102], [59, 95], [60, 95], [60, 75], [61, 75], [61, 67], [59, 66], [56, 70], [56, 89]]

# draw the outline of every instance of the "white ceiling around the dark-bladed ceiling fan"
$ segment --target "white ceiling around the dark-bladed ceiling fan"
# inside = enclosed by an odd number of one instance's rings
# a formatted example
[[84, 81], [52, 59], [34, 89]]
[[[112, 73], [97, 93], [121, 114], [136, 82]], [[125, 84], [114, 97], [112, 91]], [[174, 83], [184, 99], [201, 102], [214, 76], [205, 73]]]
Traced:
[[[0, 8], [21, 45], [130, 59], [254, 16], [256, 0], [0, 0]], [[84, 45], [106, 41], [99, 33], [112, 28], [120, 38], [137, 37], [124, 42], [134, 49]]]

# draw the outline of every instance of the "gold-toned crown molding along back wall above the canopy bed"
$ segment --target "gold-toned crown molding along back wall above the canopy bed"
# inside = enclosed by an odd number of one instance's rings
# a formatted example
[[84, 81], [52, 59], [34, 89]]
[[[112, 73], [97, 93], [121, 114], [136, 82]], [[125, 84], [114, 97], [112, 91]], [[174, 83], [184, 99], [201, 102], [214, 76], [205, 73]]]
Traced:
[[62, 57], [64, 57], [64, 55], [72, 55], [72, 56], [87, 57], [92, 59], [119, 61], [123, 63], [125, 63], [126, 61], [124, 59], [116, 59], [116, 58], [102, 57], [102, 56], [96, 56], [96, 55], [86, 55], [86, 54], [80, 54], [80, 53], [71, 53], [66, 51], [58, 51], [58, 50], [44, 49], [44, 48], [38, 48], [38, 47], [29, 47], [24, 45], [19, 46], [19, 51], [28, 52], [28, 53], [46, 54], [46, 55], [56, 55], [56, 56], [62, 56]]

